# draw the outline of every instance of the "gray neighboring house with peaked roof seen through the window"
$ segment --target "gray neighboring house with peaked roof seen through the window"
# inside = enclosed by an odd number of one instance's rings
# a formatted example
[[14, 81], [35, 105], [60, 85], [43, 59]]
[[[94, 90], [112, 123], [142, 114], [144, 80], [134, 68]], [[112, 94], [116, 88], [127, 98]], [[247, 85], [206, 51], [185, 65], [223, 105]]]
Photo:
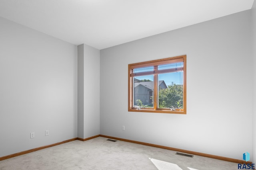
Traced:
[[[159, 89], [167, 88], [164, 80], [160, 80], [158, 82], [158, 84], [159, 84]], [[151, 105], [152, 104], [151, 96], [153, 96], [153, 94], [154, 94], [153, 88], [154, 88], [153, 81], [141, 82], [141, 80], [135, 79], [135, 82], [134, 82], [135, 99], [134, 99], [134, 101], [141, 100], [143, 105]]]

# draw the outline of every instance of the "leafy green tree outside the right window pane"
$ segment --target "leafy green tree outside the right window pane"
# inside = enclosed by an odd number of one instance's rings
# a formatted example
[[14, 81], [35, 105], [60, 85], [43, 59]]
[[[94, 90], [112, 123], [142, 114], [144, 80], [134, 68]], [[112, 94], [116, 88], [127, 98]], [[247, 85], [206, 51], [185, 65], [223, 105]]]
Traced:
[[158, 95], [160, 108], [183, 108], [183, 85], [168, 85], [168, 88], [160, 89]]

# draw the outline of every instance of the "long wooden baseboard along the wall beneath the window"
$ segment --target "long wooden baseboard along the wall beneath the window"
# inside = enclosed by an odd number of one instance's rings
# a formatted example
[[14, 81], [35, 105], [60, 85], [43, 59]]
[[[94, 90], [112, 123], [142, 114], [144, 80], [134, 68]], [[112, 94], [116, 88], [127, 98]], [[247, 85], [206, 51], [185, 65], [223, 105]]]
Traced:
[[132, 141], [132, 140], [122, 139], [122, 138], [118, 138], [118, 137], [111, 137], [111, 136], [106, 136], [106, 135], [100, 135], [100, 137], [106, 137], [106, 138], [115, 139], [115, 140], [118, 140], [118, 141], [136, 143], [136, 144], [146, 145], [146, 146], [150, 146], [150, 147], [174, 150], [174, 151], [183, 152], [183, 153], [187, 153], [187, 154], [194, 154], [194, 155], [204, 156], [204, 157], [208, 157], [208, 158], [225, 160], [225, 161], [228, 161], [228, 162], [235, 162], [235, 163], [238, 163], [238, 164], [252, 164], [252, 162], [250, 162], [250, 161], [246, 162], [244, 160], [239, 160], [239, 159], [227, 158], [227, 157], [223, 157], [223, 156], [216, 156], [216, 155], [212, 155], [212, 154], [205, 154], [205, 153], [194, 152], [194, 151], [184, 150], [184, 149], [177, 149], [177, 148], [172, 148], [172, 147], [165, 147], [165, 146], [161, 146], [161, 145], [155, 145], [155, 144], [151, 144], [151, 143]]

